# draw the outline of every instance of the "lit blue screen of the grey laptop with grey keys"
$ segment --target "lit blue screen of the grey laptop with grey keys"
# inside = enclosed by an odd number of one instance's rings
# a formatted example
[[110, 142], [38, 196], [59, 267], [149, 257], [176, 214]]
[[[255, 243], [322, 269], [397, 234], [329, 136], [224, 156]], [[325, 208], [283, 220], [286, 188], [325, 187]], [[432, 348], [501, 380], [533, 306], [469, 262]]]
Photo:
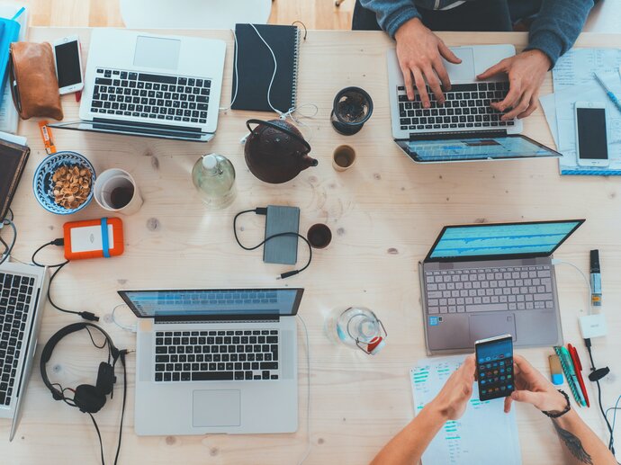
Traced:
[[549, 255], [581, 221], [446, 227], [428, 258]]

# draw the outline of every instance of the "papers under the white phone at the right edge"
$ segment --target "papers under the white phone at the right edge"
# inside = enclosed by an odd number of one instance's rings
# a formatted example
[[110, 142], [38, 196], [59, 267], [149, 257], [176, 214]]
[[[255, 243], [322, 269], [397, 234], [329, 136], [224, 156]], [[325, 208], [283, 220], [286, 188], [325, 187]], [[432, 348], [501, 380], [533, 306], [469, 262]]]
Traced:
[[[561, 174], [621, 175], [621, 112], [593, 77], [597, 73], [614, 94], [621, 95], [619, 67], [619, 49], [571, 49], [557, 61], [553, 71], [554, 94], [539, 101], [556, 147], [563, 154], [559, 159]], [[577, 163], [576, 102], [606, 103], [610, 165], [605, 168]]]

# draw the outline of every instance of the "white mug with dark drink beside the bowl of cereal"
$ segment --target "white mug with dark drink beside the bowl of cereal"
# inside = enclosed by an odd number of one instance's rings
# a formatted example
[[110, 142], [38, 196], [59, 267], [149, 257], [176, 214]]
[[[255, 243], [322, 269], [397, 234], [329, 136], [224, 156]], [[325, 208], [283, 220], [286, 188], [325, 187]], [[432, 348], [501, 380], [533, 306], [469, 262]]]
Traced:
[[[123, 195], [131, 198], [123, 199]], [[142, 196], [136, 181], [127, 171], [120, 168], [105, 170], [94, 182], [94, 200], [103, 210], [132, 215], [140, 210]]]

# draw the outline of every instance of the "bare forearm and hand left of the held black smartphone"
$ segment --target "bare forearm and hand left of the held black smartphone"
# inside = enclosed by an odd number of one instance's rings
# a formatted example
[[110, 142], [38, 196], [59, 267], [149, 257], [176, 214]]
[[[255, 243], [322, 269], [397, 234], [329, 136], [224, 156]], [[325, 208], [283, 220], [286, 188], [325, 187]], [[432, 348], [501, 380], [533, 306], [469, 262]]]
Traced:
[[429, 443], [448, 420], [464, 415], [473, 394], [474, 355], [466, 357], [445, 386], [419, 412], [401, 433], [392, 438], [377, 454], [372, 465], [411, 465], [418, 463]]

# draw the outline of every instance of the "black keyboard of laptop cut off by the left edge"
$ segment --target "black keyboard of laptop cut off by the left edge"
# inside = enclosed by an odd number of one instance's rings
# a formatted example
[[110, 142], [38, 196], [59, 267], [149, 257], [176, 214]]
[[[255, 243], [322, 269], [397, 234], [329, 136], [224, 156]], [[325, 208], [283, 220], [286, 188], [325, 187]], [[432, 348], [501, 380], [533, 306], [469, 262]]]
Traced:
[[0, 406], [11, 405], [34, 278], [0, 273]]

